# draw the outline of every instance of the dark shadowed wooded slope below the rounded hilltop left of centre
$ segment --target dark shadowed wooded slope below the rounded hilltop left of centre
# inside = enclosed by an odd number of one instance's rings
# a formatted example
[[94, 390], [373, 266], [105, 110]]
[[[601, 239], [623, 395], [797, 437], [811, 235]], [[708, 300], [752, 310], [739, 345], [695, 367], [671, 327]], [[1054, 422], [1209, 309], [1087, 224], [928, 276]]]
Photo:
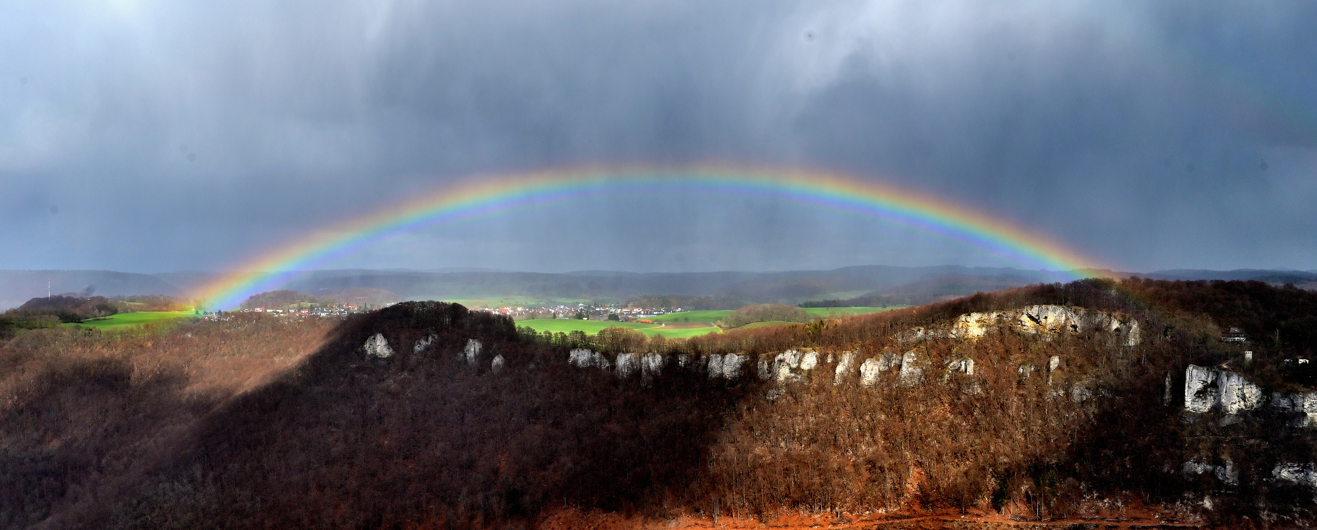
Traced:
[[[367, 362], [382, 333], [398, 352]], [[433, 335], [420, 352], [414, 345]], [[481, 358], [462, 359], [468, 339]], [[506, 360], [493, 371], [490, 359]], [[701, 463], [751, 384], [652, 385], [565, 363], [512, 321], [406, 302], [349, 320], [304, 364], [230, 401], [97, 527], [519, 527], [553, 505], [695, 505]]]

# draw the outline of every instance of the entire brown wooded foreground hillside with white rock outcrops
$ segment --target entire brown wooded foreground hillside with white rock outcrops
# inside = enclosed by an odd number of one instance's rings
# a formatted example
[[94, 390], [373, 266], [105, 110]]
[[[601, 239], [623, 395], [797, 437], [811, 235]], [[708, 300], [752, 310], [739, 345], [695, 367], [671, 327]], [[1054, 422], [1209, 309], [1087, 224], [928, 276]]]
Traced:
[[1089, 280], [686, 341], [441, 302], [36, 330], [0, 523], [1304, 527], [1314, 325], [1295, 288]]

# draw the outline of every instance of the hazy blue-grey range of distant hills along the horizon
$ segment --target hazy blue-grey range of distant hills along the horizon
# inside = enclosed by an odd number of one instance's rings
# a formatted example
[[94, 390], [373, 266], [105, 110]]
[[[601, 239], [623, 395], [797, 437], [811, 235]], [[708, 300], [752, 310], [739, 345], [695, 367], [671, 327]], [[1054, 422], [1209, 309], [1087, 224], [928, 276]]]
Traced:
[[[1260, 280], [1317, 288], [1317, 272], [1293, 270], [1167, 270], [1150, 274], [1115, 272], [1164, 280]], [[167, 295], [187, 299], [219, 277], [216, 272], [186, 271], [134, 274], [115, 271], [0, 271], [0, 309], [54, 293], [100, 296]], [[643, 295], [711, 296], [738, 304], [844, 300], [882, 295], [901, 304], [922, 304], [946, 297], [994, 291], [1031, 283], [1056, 281], [1054, 274], [1005, 267], [892, 267], [856, 266], [828, 271], [781, 272], [620, 272], [574, 271], [507, 272], [487, 270], [325, 270], [309, 271], [274, 289], [329, 296], [332, 289], [379, 289], [379, 300], [454, 300], [528, 296], [623, 302]], [[88, 292], [88, 289], [91, 292]], [[344, 295], [345, 296], [345, 295]], [[353, 295], [352, 299], [363, 295]], [[337, 297], [336, 297], [337, 299]], [[371, 302], [375, 304], [375, 302]], [[383, 304], [383, 302], [382, 302]], [[889, 305], [889, 304], [880, 304]], [[736, 305], [740, 306], [740, 305]], [[731, 308], [735, 309], [735, 308]]]

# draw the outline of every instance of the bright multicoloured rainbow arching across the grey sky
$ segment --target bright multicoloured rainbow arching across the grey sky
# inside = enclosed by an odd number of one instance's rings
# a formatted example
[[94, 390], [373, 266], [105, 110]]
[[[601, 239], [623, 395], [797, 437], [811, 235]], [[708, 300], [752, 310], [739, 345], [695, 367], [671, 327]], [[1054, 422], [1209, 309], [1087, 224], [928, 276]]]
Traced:
[[279, 288], [319, 263], [389, 235], [536, 204], [635, 192], [781, 197], [917, 226], [1022, 264], [1056, 271], [1059, 279], [1092, 276], [1101, 268], [1073, 250], [986, 213], [840, 174], [712, 166], [587, 168], [494, 175], [445, 185], [270, 249], [234, 267], [238, 272], [225, 274], [205, 285], [199, 295], [208, 308], [236, 308], [250, 295]]

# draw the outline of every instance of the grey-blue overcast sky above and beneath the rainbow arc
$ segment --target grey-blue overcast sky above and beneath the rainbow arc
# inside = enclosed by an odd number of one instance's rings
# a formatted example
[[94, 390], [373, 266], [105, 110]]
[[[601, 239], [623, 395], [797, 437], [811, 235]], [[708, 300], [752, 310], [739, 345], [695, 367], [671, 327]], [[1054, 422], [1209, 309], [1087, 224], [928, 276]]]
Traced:
[[[1312, 1], [13, 0], [0, 49], [0, 268], [225, 270], [473, 175], [698, 162], [919, 189], [1127, 271], [1317, 268]], [[1033, 266], [727, 199], [320, 266]]]

